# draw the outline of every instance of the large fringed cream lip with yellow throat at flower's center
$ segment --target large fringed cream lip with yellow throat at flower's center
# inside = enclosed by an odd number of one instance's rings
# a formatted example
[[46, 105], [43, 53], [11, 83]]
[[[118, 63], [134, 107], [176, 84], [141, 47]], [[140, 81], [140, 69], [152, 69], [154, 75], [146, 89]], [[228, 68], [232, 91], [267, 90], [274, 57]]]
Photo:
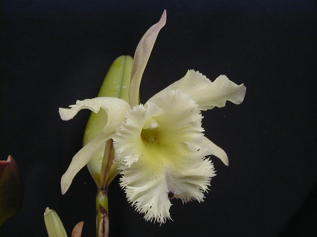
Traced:
[[[145, 129], [149, 118], [159, 126]], [[200, 151], [201, 120], [198, 105], [188, 94], [165, 91], [129, 111], [113, 135], [120, 185], [145, 219], [170, 219], [170, 192], [183, 201], [203, 199], [214, 172], [211, 161], [204, 159], [207, 152]]]

